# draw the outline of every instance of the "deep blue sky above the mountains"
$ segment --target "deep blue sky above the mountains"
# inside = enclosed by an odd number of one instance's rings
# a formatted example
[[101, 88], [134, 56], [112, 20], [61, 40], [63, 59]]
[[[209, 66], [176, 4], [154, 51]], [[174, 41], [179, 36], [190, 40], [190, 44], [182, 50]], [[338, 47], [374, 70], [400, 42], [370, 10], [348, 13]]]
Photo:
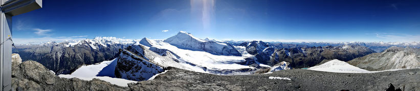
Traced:
[[13, 16], [16, 43], [95, 37], [420, 42], [419, 1], [53, 1]]

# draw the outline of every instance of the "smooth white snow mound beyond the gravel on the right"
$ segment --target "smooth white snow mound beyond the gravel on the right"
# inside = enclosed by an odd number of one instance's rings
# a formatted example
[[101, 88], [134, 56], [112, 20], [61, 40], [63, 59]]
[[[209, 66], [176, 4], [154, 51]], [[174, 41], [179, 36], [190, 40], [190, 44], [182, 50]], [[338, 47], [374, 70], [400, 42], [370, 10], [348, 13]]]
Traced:
[[336, 73], [367, 73], [369, 71], [352, 66], [338, 59], [330, 60], [319, 66], [308, 68], [308, 70], [336, 72]]

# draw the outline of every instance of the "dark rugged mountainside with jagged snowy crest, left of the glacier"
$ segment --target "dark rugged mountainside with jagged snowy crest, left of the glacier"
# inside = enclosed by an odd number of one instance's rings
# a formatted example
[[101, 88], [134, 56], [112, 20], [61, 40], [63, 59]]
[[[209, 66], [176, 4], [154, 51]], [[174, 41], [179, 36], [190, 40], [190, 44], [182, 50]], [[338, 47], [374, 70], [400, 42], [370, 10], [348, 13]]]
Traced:
[[70, 74], [82, 65], [91, 65], [111, 60], [118, 49], [124, 48], [123, 44], [102, 46], [89, 45], [89, 41], [81, 41], [74, 46], [68, 42], [50, 43], [31, 48], [19, 49], [19, 54], [24, 61], [34, 60], [58, 74]]

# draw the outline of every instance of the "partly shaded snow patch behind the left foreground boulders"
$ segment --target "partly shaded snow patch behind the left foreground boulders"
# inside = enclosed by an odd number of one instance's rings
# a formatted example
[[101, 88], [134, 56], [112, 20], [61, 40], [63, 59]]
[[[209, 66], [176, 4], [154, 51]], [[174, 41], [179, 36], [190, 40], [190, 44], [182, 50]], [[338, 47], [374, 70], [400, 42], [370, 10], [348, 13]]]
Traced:
[[61, 74], [58, 76], [62, 78], [79, 78], [82, 80], [92, 80], [93, 78], [98, 78], [98, 79], [101, 79], [101, 80], [104, 80], [104, 81], [107, 81], [107, 82], [110, 82], [112, 84], [116, 84], [119, 86], [127, 86], [127, 83], [137, 82], [137, 81], [126, 80], [126, 79], [121, 79], [121, 78], [96, 76], [103, 68], [113, 63], [114, 61], [116, 61], [116, 59], [104, 61], [96, 65], [82, 66], [70, 75]]

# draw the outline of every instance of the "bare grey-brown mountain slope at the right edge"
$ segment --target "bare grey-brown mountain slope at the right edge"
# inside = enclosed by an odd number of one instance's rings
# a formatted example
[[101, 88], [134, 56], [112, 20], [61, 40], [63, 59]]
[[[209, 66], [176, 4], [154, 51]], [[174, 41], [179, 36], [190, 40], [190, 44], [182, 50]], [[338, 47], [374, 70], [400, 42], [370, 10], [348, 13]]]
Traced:
[[420, 67], [420, 49], [390, 47], [380, 53], [372, 53], [350, 60], [350, 65], [369, 71]]

